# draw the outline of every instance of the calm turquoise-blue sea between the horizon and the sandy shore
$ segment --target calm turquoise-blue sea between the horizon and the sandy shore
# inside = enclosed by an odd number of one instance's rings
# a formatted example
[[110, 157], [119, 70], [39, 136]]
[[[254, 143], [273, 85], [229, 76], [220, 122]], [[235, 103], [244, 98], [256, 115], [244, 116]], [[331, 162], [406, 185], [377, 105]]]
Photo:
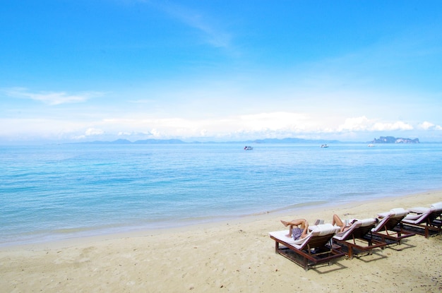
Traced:
[[442, 189], [439, 144], [243, 147], [0, 146], [0, 246]]

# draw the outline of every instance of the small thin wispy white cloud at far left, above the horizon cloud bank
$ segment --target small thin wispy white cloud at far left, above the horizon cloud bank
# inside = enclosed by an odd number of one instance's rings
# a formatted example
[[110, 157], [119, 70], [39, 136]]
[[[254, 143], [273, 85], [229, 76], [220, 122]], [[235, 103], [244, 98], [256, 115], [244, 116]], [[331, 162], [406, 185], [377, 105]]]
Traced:
[[102, 95], [101, 92], [81, 92], [78, 94], [68, 94], [67, 92], [30, 92], [27, 88], [8, 88], [3, 91], [9, 97], [35, 100], [51, 106], [85, 102], [92, 97]]

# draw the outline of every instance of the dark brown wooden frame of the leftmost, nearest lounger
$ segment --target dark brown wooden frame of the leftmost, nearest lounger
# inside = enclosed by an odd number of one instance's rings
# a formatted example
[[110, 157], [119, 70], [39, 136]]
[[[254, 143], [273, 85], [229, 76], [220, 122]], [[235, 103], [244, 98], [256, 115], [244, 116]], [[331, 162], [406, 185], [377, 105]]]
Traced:
[[[330, 264], [330, 261], [345, 256], [345, 252], [326, 246], [332, 237], [333, 234], [313, 236], [308, 240], [308, 244], [303, 249], [297, 249], [287, 242], [270, 235], [270, 238], [275, 240], [275, 253], [279, 253], [290, 261], [297, 263], [304, 270], [309, 270], [309, 268], [319, 263]], [[280, 247], [280, 244], [285, 247]], [[314, 253], [312, 252], [313, 249]]]

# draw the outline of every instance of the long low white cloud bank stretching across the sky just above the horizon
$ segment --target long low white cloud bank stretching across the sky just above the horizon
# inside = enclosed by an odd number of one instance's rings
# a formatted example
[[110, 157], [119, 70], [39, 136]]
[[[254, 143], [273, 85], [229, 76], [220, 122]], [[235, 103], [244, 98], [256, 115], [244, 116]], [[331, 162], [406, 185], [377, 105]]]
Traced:
[[[65, 121], [63, 119], [0, 119], [0, 138], [47, 138], [52, 140], [114, 140], [127, 138], [216, 138], [241, 140], [256, 138], [347, 138], [366, 139], [367, 133], [392, 134], [392, 131], [442, 131], [441, 126], [428, 121], [416, 127], [403, 121], [382, 122], [366, 116], [352, 117], [339, 124], [328, 117], [319, 118], [302, 113], [266, 112], [222, 119], [131, 118], [100, 121]], [[421, 134], [415, 135], [421, 136]]]

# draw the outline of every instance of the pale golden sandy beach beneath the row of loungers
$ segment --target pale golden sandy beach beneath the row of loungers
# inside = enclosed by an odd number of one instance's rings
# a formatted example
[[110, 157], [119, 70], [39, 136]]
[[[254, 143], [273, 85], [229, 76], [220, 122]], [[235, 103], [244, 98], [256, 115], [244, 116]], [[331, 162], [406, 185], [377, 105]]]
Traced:
[[429, 207], [442, 191], [268, 213], [210, 225], [0, 249], [2, 292], [441, 292], [442, 235], [416, 235], [304, 271], [274, 250], [280, 220], [331, 222]]

